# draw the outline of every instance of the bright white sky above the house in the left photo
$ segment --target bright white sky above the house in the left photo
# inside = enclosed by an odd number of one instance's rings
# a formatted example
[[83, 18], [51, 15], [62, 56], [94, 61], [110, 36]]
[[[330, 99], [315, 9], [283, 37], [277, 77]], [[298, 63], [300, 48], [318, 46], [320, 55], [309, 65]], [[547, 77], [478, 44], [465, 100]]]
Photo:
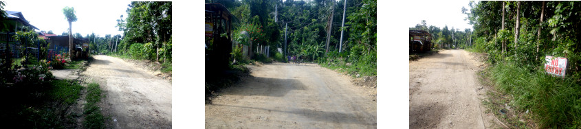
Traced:
[[118, 31], [117, 19], [123, 15], [127, 18], [130, 1], [6, 1], [4, 10], [22, 12], [24, 19], [39, 28], [36, 31], [50, 31], [61, 35], [68, 32], [69, 23], [63, 14], [63, 8], [73, 7], [77, 21], [72, 23], [73, 34], [83, 36], [94, 32], [100, 37], [106, 34], [123, 35]]

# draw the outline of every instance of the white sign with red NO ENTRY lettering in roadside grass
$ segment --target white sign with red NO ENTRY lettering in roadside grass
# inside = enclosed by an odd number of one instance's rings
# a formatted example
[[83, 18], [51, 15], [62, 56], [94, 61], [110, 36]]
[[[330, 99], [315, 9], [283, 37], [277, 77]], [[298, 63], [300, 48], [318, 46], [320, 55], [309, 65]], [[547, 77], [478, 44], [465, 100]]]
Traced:
[[547, 73], [564, 78], [566, 69], [567, 58], [545, 56], [545, 71], [547, 71]]

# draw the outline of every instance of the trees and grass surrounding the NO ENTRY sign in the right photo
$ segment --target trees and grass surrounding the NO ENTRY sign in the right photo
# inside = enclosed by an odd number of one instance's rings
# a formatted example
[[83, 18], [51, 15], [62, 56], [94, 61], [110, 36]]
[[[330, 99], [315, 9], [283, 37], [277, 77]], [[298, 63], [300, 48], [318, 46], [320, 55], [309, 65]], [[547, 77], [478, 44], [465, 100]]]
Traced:
[[[531, 109], [541, 128], [581, 126], [580, 4], [471, 1], [471, 9], [463, 9], [474, 25], [472, 48], [489, 55], [496, 84], [521, 110]], [[565, 78], [545, 75], [545, 56], [567, 58]]]

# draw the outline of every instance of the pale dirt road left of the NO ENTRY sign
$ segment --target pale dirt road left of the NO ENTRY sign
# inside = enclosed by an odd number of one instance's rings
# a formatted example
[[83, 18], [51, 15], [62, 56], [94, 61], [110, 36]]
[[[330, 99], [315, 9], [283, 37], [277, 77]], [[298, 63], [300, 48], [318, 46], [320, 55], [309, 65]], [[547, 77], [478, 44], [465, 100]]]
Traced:
[[481, 99], [478, 62], [464, 50], [410, 62], [410, 128], [493, 128]]

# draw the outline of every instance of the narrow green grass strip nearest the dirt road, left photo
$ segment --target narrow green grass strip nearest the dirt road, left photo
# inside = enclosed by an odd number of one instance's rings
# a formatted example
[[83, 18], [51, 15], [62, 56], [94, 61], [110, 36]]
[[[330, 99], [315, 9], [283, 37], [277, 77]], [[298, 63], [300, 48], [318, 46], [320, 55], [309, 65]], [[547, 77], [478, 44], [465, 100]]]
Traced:
[[83, 126], [85, 128], [105, 128], [105, 117], [101, 114], [100, 107], [96, 104], [101, 101], [102, 91], [99, 84], [91, 83], [87, 88], [87, 104], [85, 104], [84, 113], [85, 121]]

